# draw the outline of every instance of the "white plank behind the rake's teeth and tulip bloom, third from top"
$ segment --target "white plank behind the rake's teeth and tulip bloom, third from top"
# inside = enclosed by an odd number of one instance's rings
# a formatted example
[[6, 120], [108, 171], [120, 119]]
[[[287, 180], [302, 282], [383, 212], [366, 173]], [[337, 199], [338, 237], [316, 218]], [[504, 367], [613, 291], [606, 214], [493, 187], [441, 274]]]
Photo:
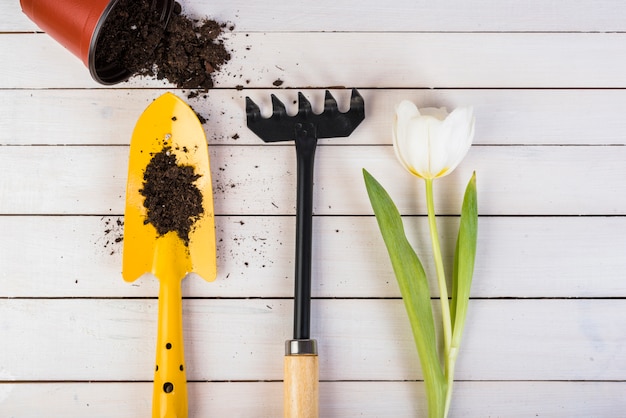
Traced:
[[[269, 115], [275, 94], [296, 112], [292, 90], [211, 90], [187, 99], [208, 122], [209, 145], [260, 145], [246, 127], [243, 103], [250, 96]], [[324, 91], [299, 90], [321, 112]], [[331, 89], [345, 110], [349, 92]], [[625, 145], [626, 91], [561, 89], [359, 89], [366, 103], [363, 126], [348, 138], [322, 139], [321, 144], [389, 145], [394, 108], [403, 99], [420, 107], [471, 105], [477, 115], [476, 145]], [[128, 145], [141, 112], [162, 89], [6, 90], [11, 103], [0, 118], [2, 145]], [[587, 109], [585, 116], [580, 112]], [[593, 111], [591, 111], [593, 110]], [[80, 117], [76, 117], [80, 115]], [[33, 118], [36, 123], [33, 123]], [[71, 123], [70, 123], [71, 121]]]

